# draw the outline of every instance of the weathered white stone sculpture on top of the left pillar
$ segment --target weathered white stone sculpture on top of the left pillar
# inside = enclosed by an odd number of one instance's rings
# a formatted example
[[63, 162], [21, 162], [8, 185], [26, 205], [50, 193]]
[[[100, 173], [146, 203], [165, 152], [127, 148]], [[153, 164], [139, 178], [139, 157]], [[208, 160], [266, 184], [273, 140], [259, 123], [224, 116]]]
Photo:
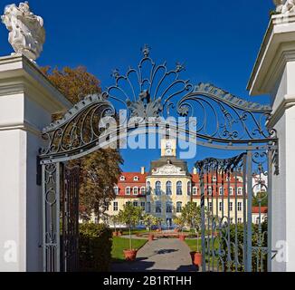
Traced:
[[7, 5], [1, 16], [2, 22], [9, 30], [8, 41], [15, 53], [24, 54], [35, 61], [43, 51], [45, 30], [43, 18], [30, 11], [28, 2], [16, 5]]

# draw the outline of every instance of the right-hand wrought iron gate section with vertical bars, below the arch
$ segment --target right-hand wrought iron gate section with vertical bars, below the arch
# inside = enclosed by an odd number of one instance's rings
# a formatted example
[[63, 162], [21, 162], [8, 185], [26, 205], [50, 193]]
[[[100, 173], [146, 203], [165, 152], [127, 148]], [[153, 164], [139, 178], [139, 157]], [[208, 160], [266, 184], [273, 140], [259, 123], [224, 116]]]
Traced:
[[[272, 150], [196, 162], [204, 272], [271, 271]], [[257, 217], [252, 217], [253, 199]]]

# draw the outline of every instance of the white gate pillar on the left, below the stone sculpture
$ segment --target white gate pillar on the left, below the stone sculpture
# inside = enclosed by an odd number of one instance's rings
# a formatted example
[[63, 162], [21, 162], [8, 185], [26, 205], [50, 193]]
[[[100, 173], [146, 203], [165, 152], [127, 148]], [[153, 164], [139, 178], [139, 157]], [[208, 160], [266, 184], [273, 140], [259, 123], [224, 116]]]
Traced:
[[70, 107], [27, 58], [0, 57], [0, 272], [43, 271], [40, 133]]

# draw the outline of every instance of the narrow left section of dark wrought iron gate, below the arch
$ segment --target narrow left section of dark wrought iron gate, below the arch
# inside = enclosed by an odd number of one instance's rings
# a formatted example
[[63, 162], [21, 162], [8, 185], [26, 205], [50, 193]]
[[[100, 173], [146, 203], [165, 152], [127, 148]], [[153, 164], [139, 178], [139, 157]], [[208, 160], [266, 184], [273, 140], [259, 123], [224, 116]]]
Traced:
[[79, 267], [79, 167], [43, 165], [43, 271]]

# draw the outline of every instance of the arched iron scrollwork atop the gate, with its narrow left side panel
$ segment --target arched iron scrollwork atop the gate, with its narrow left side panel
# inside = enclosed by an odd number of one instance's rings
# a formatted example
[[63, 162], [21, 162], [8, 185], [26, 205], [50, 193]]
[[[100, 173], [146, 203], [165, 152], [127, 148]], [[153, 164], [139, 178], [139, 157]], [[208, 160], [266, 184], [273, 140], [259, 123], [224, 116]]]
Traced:
[[[62, 162], [81, 158], [106, 145], [101, 136], [113, 136], [126, 130], [126, 123], [134, 122], [136, 128], [160, 127], [167, 118], [180, 118], [170, 129], [194, 138], [198, 145], [224, 150], [277, 150], [276, 131], [266, 127], [271, 117], [271, 106], [247, 102], [230, 92], [209, 83], [192, 84], [180, 76], [185, 71], [181, 63], [168, 69], [167, 63], [157, 64], [150, 57], [150, 48], [142, 49], [143, 58], [135, 68], [121, 74], [112, 73], [115, 83], [100, 94], [86, 96], [65, 113], [59, 121], [53, 121], [43, 130], [45, 146], [40, 152], [43, 166], [43, 196], [51, 192], [54, 203], [44, 198], [44, 243], [52, 246], [52, 262], [56, 264], [55, 247], [59, 247], [56, 233], [59, 231], [56, 213], [61, 182]], [[121, 111], [125, 110], [123, 116]], [[190, 123], [194, 119], [194, 131]], [[115, 125], [109, 126], [109, 120]], [[111, 130], [111, 133], [109, 133]], [[134, 130], [134, 126], [127, 131]], [[116, 139], [117, 138], [117, 139]], [[55, 220], [53, 220], [55, 217]], [[47, 225], [47, 226], [46, 226]], [[46, 237], [46, 238], [45, 238]], [[48, 239], [47, 237], [51, 237]], [[48, 268], [46, 266], [46, 268]], [[51, 268], [51, 266], [49, 266]]]

